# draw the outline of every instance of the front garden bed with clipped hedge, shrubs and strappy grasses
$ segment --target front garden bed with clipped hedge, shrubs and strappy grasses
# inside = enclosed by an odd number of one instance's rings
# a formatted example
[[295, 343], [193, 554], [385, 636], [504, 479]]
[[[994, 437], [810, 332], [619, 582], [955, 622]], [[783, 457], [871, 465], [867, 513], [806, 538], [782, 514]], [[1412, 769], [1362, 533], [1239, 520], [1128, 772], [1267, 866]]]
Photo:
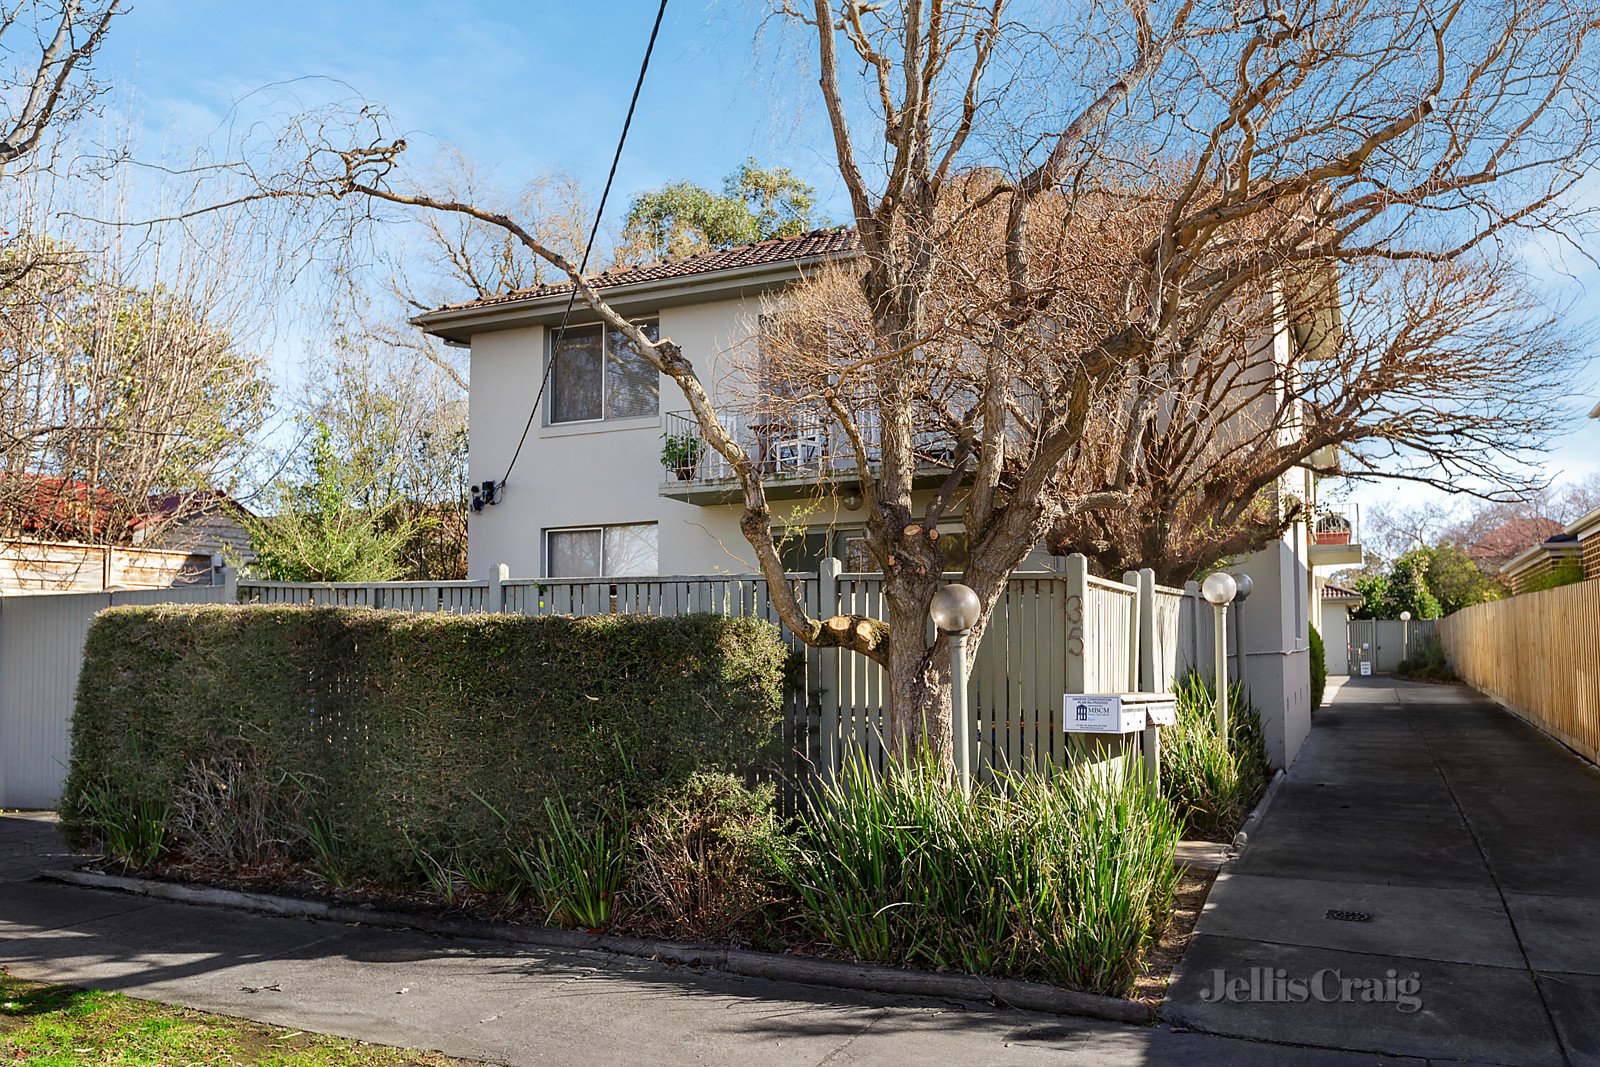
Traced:
[[280, 909], [1147, 1014], [1208, 885], [1174, 864], [1184, 827], [1227, 840], [1261, 793], [1243, 694], [1224, 744], [1179, 688], [1162, 790], [1083, 763], [966, 792], [923, 753], [797, 782], [781, 817], [750, 773], [782, 670], [776, 630], [712, 616], [114, 609], [62, 827], [107, 870]]

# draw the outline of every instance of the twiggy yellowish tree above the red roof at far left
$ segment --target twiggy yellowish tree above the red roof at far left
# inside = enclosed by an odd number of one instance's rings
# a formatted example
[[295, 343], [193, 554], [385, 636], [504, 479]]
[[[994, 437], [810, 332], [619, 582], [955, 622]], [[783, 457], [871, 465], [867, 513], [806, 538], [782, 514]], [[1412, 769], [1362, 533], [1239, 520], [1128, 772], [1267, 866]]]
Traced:
[[[0, 530], [126, 544], [155, 533], [154, 496], [202, 506], [234, 488], [266, 418], [230, 269], [238, 221], [208, 219], [203, 245], [74, 230], [59, 213], [82, 202], [56, 184], [48, 171], [0, 182], [18, 227], [0, 262], [32, 264], [0, 288]], [[96, 186], [115, 216], [125, 190]]]

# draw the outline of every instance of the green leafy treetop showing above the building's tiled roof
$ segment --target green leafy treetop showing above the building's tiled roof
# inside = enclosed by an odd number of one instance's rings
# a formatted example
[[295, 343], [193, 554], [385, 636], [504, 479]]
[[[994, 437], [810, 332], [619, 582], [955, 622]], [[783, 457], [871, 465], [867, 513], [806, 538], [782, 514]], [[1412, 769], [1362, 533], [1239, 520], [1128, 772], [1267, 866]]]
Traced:
[[691, 181], [634, 197], [618, 258], [629, 262], [682, 259], [730, 245], [790, 237], [816, 226], [816, 190], [787, 166], [757, 162], [728, 174], [722, 194]]

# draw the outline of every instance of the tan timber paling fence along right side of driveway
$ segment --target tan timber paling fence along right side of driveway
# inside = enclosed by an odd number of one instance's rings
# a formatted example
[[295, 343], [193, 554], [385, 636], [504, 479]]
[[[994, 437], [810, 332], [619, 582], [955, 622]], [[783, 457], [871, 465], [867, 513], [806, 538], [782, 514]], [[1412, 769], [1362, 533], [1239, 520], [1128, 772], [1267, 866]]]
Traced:
[[1462, 681], [1600, 761], [1600, 579], [1462, 608], [1438, 638]]

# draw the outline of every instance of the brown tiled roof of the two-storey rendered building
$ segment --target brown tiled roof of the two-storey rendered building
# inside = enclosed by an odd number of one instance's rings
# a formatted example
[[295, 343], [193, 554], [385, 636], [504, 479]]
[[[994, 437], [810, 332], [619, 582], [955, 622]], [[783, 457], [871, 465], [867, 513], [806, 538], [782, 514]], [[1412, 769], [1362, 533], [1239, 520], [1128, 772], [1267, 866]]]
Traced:
[[[717, 280], [736, 280], [752, 275], [790, 272], [806, 264], [851, 256], [861, 248], [861, 242], [853, 229], [811, 230], [795, 237], [771, 237], [750, 245], [734, 245], [698, 256], [669, 259], [640, 267], [618, 267], [590, 275], [589, 283], [597, 290], [661, 293], [690, 283], [701, 286]], [[485, 315], [498, 312], [560, 312], [573, 291], [570, 282], [539, 285], [514, 293], [501, 293], [458, 304], [445, 304], [430, 312], [424, 312], [411, 320], [413, 325], [445, 338], [446, 341], [464, 341], [470, 331], [462, 330], [464, 323], [482, 323]], [[613, 298], [614, 299], [614, 298]], [[549, 307], [547, 307], [549, 306]]]

